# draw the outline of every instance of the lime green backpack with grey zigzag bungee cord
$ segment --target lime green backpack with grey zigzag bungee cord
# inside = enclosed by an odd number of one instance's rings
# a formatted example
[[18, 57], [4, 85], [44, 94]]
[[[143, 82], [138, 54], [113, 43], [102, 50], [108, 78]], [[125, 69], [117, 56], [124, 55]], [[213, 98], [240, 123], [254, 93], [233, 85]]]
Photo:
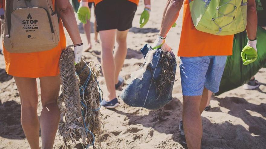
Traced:
[[247, 0], [189, 0], [197, 30], [214, 35], [233, 35], [246, 29]]

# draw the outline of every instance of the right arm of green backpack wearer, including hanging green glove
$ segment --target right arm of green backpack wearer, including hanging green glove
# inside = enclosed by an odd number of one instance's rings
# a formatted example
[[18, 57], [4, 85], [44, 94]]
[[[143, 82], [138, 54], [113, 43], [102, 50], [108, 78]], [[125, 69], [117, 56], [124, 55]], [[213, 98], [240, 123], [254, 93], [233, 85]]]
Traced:
[[258, 25], [258, 16], [256, 10], [255, 0], [248, 0], [248, 9], [247, 9], [247, 35], [248, 35], [248, 44], [243, 48], [241, 52], [241, 58], [243, 65], [248, 65], [256, 61], [257, 54], [257, 25]]

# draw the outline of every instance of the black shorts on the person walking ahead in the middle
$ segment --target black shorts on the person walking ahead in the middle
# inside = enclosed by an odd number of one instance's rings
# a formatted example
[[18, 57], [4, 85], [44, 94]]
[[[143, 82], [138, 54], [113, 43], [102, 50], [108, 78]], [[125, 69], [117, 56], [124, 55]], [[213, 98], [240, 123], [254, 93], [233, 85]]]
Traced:
[[95, 7], [97, 32], [117, 29], [125, 31], [132, 27], [137, 5], [127, 0], [103, 0]]

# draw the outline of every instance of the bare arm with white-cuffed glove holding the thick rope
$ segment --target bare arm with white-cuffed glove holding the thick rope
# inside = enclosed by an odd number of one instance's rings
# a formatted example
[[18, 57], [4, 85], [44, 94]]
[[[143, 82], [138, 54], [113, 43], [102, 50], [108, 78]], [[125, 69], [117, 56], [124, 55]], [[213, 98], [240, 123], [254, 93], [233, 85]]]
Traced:
[[68, 0], [56, 0], [55, 2], [57, 14], [66, 27], [74, 46], [76, 45], [74, 53], [75, 64], [77, 64], [81, 61], [83, 46], [73, 8]]

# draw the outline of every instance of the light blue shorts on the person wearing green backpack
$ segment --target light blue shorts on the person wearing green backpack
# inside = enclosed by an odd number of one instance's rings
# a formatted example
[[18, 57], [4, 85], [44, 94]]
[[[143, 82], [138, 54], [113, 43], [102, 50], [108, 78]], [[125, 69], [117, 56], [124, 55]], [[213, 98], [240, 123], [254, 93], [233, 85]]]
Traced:
[[218, 92], [227, 56], [180, 57], [184, 96], [200, 96], [204, 87]]

